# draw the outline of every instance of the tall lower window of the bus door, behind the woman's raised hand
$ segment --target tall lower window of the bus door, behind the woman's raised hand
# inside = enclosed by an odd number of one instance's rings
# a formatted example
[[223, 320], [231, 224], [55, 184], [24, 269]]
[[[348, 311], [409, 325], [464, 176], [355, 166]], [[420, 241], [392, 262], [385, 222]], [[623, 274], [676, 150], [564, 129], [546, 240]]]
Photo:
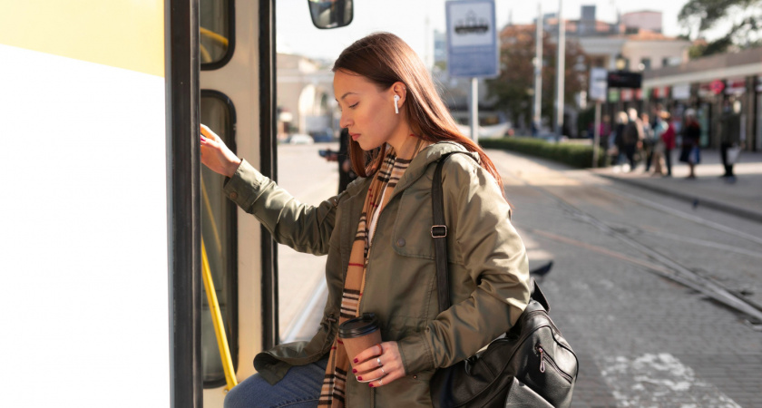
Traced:
[[[230, 150], [235, 147], [235, 111], [230, 99], [221, 92], [201, 91], [201, 123], [209, 126], [225, 141]], [[235, 364], [238, 349], [238, 238], [236, 205], [222, 192], [223, 177], [202, 167], [201, 169], [201, 238], [209, 257], [212, 280], [220, 314], [228, 335], [230, 355]], [[202, 296], [201, 310], [201, 367], [204, 387], [225, 384], [220, 350], [214, 334], [210, 307], [206, 295]]]

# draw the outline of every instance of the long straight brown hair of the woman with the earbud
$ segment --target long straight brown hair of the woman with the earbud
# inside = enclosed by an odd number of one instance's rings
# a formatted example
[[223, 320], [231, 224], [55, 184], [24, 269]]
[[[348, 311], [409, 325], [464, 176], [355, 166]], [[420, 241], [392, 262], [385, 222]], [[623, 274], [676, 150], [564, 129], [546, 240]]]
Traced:
[[[478, 144], [458, 130], [423, 61], [401, 38], [390, 33], [374, 33], [357, 40], [338, 56], [331, 71], [361, 75], [381, 90], [387, 90], [397, 82], [405, 83], [407, 93], [402, 109], [407, 114], [410, 130], [425, 141], [455, 141], [467, 151], [477, 152], [482, 167], [493, 175], [503, 191], [503, 180], [492, 160]], [[366, 152], [357, 141], [349, 141], [352, 168], [361, 177], [375, 174], [385, 153], [386, 144]]]

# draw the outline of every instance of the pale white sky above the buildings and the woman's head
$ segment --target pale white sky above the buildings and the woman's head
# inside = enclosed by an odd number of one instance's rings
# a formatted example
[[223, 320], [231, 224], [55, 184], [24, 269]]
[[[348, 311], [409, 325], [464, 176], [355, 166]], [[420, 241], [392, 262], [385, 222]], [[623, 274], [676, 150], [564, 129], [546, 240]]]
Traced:
[[[631, 11], [662, 12], [664, 34], [679, 35], [678, 14], [687, 0], [562, 0], [563, 18], [579, 19], [582, 5], [596, 5], [596, 18], [614, 23], [617, 13]], [[559, 0], [495, 0], [497, 26], [529, 24], [542, 13], [556, 13]], [[425, 61], [430, 61], [434, 30], [445, 32], [445, 0], [355, 0], [355, 16], [347, 27], [331, 30], [315, 28], [304, 0], [276, 2], [279, 53], [298, 53], [333, 61], [356, 40], [376, 31], [402, 37]]]

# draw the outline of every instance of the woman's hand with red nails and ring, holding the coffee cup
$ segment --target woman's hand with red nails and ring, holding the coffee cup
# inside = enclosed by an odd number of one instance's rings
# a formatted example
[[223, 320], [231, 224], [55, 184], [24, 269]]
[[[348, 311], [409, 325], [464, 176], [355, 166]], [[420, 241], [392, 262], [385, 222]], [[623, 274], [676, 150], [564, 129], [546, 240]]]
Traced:
[[396, 342], [384, 342], [374, 345], [355, 357], [360, 363], [355, 363], [357, 381], [376, 379], [368, 385], [382, 387], [405, 376], [405, 366], [399, 355], [399, 345]]

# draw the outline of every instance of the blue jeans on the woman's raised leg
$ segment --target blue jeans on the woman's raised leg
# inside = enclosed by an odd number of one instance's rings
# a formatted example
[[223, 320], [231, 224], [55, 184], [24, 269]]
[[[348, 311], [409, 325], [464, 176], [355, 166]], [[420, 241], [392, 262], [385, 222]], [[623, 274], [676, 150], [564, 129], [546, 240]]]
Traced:
[[259, 374], [251, 375], [225, 396], [225, 408], [315, 408], [327, 364], [326, 356], [313, 364], [295, 365], [275, 385], [270, 385]]

